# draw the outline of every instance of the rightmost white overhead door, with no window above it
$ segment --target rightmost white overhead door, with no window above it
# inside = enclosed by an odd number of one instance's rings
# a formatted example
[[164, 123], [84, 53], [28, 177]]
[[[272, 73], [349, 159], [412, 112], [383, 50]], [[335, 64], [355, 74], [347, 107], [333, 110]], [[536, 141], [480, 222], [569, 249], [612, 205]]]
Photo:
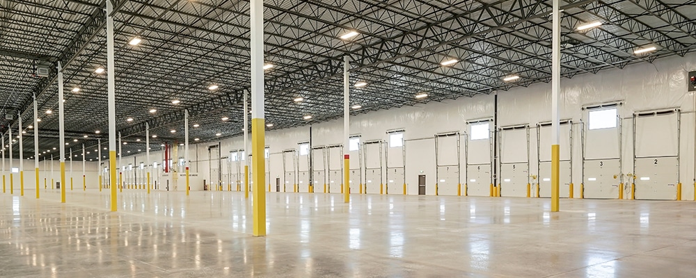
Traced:
[[679, 109], [633, 113], [635, 199], [677, 199]]

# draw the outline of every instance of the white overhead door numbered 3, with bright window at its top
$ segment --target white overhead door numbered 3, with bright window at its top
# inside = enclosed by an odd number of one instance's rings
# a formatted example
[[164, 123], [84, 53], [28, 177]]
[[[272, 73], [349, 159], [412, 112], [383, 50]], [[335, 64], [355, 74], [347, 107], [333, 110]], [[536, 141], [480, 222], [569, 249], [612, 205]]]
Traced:
[[[583, 188], [585, 198], [617, 199], [621, 177], [622, 124], [618, 105], [586, 108], [583, 113]], [[594, 125], [594, 126], [593, 126]]]

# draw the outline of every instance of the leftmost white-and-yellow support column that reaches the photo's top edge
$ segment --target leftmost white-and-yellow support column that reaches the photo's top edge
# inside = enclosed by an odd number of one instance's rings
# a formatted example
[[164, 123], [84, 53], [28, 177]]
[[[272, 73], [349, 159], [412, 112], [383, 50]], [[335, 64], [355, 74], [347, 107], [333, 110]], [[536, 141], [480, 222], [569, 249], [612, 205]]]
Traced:
[[106, 90], [109, 103], [109, 177], [111, 178], [111, 211], [116, 211], [116, 70], [113, 63], [113, 3], [106, 1]]

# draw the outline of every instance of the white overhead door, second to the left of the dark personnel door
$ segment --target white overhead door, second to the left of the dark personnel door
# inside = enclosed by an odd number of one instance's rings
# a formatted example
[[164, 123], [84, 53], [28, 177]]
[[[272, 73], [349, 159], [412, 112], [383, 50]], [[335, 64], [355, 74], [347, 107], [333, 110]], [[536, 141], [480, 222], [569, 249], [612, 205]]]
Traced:
[[383, 194], [383, 142], [379, 140], [364, 142], [363, 160], [363, 165], [365, 165], [365, 194]]

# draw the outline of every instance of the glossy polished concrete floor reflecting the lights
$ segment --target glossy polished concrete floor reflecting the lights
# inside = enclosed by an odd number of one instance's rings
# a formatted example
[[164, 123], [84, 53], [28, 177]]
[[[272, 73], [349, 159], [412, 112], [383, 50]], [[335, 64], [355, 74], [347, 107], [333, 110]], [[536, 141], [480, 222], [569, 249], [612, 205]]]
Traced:
[[0, 193], [0, 277], [696, 277], [696, 202]]

